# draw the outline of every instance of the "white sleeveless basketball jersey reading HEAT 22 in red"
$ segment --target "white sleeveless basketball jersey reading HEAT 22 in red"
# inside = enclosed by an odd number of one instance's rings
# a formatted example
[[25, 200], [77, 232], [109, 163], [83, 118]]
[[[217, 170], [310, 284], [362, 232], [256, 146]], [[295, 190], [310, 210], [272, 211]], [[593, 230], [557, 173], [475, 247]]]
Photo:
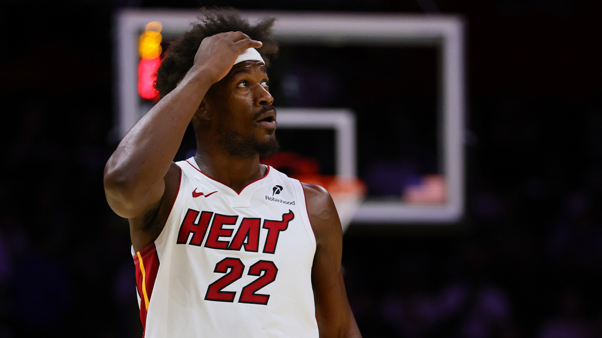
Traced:
[[268, 167], [237, 192], [176, 164], [167, 223], [134, 254], [144, 337], [318, 337], [301, 183]]

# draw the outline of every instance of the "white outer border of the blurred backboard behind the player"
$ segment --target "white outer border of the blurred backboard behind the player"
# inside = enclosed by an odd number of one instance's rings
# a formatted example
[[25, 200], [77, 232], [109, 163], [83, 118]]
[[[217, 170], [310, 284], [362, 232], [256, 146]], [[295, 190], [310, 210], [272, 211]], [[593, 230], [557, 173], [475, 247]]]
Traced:
[[[309, 45], [359, 46], [438, 46], [441, 51], [441, 116], [439, 146], [442, 174], [447, 182], [447, 202], [437, 206], [406, 205], [402, 201], [366, 200], [353, 218], [359, 224], [431, 223], [458, 221], [464, 214], [464, 22], [450, 15], [404, 15], [374, 13], [259, 12], [243, 11], [254, 22], [265, 16], [276, 17], [273, 35], [279, 43]], [[137, 39], [146, 23], [159, 21], [162, 34], [179, 35], [196, 22], [195, 10], [123, 9], [117, 12], [114, 25], [114, 56], [117, 84], [117, 138], [135, 124], [144, 113], [137, 96]], [[279, 108], [282, 111], [285, 108]], [[290, 108], [287, 108], [290, 109]], [[307, 109], [304, 108], [305, 111]], [[284, 112], [284, 111], [283, 111]], [[345, 113], [343, 113], [345, 114]], [[279, 121], [282, 123], [283, 121]], [[340, 124], [328, 125], [340, 129]], [[355, 135], [355, 119], [353, 120]], [[334, 127], [333, 127], [334, 126]], [[337, 129], [337, 130], [338, 130]], [[342, 130], [342, 129], [341, 129]], [[340, 141], [340, 140], [339, 140]], [[355, 175], [355, 138], [349, 144], [338, 144], [337, 173], [342, 161], [352, 168], [345, 175]], [[338, 147], [346, 147], [344, 150]], [[349, 152], [350, 156], [341, 159]], [[349, 160], [351, 158], [352, 160]], [[347, 170], [347, 169], [346, 169]]]

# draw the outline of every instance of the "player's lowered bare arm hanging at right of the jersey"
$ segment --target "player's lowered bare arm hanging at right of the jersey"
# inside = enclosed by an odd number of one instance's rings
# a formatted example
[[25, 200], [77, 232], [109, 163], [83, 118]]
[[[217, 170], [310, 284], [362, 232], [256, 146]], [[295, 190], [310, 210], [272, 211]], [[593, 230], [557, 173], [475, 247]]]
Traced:
[[334, 201], [321, 186], [303, 183], [303, 189], [317, 244], [311, 281], [320, 337], [361, 337], [341, 273], [343, 232]]

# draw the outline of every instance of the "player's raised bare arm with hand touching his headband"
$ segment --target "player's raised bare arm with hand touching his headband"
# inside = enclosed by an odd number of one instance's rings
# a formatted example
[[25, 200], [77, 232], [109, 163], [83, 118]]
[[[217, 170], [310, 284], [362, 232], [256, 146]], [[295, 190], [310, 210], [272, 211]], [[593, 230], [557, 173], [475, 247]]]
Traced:
[[261, 42], [242, 32], [220, 33], [202, 41], [193, 67], [178, 87], [134, 125], [105, 166], [105, 194], [117, 215], [140, 217], [160, 203], [166, 184], [177, 184], [166, 176], [176, 172], [170, 170], [173, 158], [203, 97], [228, 74], [240, 52], [259, 47]]

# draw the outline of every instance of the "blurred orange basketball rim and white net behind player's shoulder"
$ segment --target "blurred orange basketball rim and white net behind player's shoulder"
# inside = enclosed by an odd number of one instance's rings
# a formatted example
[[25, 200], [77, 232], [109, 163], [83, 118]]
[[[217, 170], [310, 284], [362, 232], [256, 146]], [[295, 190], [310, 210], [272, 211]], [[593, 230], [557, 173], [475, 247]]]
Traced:
[[296, 176], [301, 182], [321, 185], [335, 202], [343, 233], [353, 220], [353, 215], [366, 197], [366, 185], [357, 177], [323, 175]]

